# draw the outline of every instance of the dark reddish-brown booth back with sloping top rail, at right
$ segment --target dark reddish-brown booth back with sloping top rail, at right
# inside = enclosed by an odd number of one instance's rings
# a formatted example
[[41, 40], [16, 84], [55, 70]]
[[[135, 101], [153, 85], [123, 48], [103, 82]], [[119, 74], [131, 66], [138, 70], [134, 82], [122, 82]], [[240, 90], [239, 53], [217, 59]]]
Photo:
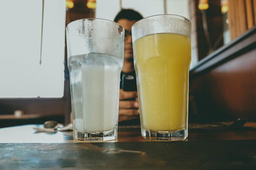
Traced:
[[256, 118], [256, 27], [190, 71], [190, 93], [204, 120]]

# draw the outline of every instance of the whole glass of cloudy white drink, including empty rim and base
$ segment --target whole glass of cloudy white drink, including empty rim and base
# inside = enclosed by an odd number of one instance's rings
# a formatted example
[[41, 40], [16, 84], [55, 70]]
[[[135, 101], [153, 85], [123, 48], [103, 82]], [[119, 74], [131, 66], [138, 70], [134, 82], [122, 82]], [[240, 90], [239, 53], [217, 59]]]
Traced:
[[74, 140], [116, 139], [124, 28], [99, 18], [71, 22], [67, 52]]

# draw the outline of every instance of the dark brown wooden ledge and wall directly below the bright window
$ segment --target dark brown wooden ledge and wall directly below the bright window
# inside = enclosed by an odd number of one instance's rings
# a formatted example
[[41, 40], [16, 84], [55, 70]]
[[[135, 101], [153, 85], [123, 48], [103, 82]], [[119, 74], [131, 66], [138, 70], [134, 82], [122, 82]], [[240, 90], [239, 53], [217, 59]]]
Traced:
[[[15, 110], [23, 111], [20, 117], [14, 117]], [[0, 127], [24, 124], [44, 124], [47, 120], [65, 122], [67, 100], [60, 99], [1, 99]]]

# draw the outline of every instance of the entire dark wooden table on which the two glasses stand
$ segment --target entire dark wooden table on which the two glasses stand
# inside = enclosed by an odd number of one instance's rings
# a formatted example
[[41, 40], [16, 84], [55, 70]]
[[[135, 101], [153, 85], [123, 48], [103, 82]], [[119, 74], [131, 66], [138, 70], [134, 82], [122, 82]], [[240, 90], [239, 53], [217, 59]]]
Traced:
[[[225, 123], [226, 124], [226, 123]], [[122, 126], [118, 141], [74, 143], [72, 132], [0, 129], [0, 169], [255, 169], [256, 123], [232, 129], [189, 124], [187, 141], [148, 142], [140, 127]]]

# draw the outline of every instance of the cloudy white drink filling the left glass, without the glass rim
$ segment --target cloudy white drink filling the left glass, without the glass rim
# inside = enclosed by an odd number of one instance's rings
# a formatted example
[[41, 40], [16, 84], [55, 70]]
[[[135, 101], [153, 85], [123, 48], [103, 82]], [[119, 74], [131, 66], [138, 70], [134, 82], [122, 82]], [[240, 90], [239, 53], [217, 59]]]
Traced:
[[83, 136], [113, 131], [118, 122], [122, 59], [88, 53], [71, 56], [68, 68], [77, 138], [79, 133]]

